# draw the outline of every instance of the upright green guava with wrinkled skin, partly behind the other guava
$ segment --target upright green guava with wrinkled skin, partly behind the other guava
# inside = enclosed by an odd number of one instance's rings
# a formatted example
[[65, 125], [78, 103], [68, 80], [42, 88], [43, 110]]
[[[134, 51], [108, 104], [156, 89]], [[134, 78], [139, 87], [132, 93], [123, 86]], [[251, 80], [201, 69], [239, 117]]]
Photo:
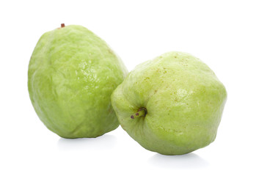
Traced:
[[97, 137], [118, 127], [111, 93], [128, 71], [83, 26], [40, 37], [29, 62], [29, 95], [46, 127], [64, 138]]

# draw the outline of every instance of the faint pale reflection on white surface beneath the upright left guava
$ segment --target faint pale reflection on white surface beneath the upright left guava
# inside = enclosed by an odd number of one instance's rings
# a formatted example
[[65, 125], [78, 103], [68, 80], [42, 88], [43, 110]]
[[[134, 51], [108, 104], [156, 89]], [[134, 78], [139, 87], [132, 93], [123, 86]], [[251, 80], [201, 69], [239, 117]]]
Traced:
[[113, 148], [116, 143], [115, 136], [104, 134], [97, 138], [60, 138], [57, 146], [60, 150], [107, 150]]

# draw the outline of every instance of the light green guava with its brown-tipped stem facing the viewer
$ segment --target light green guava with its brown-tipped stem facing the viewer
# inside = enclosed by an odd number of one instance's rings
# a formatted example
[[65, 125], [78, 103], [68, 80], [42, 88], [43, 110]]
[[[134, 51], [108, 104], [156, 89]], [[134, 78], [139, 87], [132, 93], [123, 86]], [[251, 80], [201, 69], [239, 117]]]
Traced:
[[213, 142], [226, 99], [213, 71], [182, 52], [138, 65], [111, 95], [122, 128], [142, 147], [164, 155]]

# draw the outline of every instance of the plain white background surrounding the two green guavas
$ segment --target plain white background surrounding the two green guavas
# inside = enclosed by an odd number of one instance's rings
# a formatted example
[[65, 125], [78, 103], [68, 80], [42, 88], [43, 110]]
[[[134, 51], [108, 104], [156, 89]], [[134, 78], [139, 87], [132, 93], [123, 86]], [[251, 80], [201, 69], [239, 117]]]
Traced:
[[[0, 175], [256, 175], [254, 1], [1, 1]], [[128, 70], [167, 51], [202, 59], [227, 88], [216, 141], [187, 155], [142, 148], [122, 128], [62, 139], [35, 114], [27, 90], [40, 36], [60, 23], [98, 34]]]

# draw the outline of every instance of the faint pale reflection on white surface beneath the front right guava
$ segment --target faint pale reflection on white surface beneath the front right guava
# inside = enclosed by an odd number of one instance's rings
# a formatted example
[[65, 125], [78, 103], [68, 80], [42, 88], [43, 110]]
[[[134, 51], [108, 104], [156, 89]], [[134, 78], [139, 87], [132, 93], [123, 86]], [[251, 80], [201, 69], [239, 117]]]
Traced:
[[208, 161], [195, 153], [185, 155], [161, 155], [156, 153], [149, 163], [165, 169], [199, 169], [209, 166]]

